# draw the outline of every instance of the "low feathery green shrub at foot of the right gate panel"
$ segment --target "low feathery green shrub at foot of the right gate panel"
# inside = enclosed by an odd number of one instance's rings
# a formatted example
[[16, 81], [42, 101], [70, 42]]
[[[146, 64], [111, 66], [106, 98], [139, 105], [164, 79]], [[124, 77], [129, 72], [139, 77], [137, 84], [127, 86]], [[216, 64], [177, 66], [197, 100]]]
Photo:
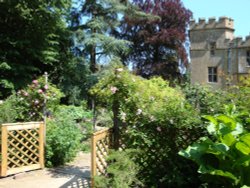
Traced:
[[129, 188], [141, 186], [137, 179], [139, 166], [133, 161], [135, 150], [112, 151], [107, 158], [107, 176], [96, 176], [96, 188]]

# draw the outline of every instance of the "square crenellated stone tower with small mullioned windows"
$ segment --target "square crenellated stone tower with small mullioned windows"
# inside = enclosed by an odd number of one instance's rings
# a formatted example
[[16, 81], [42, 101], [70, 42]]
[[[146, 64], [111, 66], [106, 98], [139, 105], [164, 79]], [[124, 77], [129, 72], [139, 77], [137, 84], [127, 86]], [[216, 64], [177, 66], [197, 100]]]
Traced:
[[234, 39], [234, 21], [220, 17], [218, 21], [200, 18], [190, 22], [191, 82], [214, 88], [226, 85], [227, 74], [236, 72], [230, 42]]

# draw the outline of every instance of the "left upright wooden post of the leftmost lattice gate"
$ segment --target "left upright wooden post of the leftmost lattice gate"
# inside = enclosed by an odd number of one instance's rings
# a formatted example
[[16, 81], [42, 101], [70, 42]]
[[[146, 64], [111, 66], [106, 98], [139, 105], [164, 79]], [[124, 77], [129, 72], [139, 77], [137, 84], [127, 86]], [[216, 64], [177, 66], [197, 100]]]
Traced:
[[8, 162], [8, 130], [7, 126], [1, 126], [2, 129], [2, 162], [1, 162], [1, 176], [7, 176], [7, 162]]

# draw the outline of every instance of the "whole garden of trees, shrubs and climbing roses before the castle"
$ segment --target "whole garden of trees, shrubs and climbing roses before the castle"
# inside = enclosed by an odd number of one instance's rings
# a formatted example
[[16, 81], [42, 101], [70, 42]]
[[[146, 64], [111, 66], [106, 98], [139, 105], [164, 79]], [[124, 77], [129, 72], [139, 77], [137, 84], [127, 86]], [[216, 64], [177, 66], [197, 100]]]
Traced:
[[249, 187], [250, 79], [190, 83], [191, 15], [180, 0], [0, 2], [0, 124], [43, 122], [48, 168], [109, 128], [94, 187]]

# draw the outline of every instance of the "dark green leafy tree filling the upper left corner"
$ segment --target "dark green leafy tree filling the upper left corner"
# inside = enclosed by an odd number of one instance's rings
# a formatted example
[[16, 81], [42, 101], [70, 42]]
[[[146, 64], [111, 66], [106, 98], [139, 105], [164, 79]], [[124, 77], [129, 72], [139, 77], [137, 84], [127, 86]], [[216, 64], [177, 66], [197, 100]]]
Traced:
[[71, 0], [0, 3], [0, 97], [71, 60], [66, 27]]

